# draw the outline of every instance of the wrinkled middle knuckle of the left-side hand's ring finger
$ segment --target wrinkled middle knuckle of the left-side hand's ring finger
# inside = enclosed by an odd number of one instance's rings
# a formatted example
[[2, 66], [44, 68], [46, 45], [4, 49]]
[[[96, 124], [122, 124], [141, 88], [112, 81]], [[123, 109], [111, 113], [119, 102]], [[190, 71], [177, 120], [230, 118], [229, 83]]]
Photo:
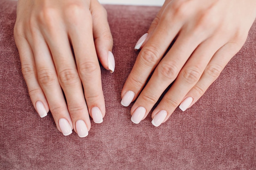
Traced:
[[37, 76], [38, 81], [42, 86], [49, 86], [56, 80], [56, 75], [52, 71], [46, 69], [38, 71]]

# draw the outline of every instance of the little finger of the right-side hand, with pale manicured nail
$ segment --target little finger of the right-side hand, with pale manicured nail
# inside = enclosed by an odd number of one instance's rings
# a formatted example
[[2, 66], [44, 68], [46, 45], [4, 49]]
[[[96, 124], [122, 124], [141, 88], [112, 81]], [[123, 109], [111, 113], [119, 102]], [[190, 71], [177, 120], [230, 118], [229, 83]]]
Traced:
[[202, 97], [202, 95], [207, 91], [209, 86], [219, 77], [223, 68], [231, 60], [231, 58], [236, 55], [240, 50], [241, 46], [227, 43], [221, 49], [219, 49], [213, 56], [209, 64], [207, 65], [202, 77], [199, 79], [197, 84], [186, 94], [182, 103], [180, 104], [180, 109], [185, 111], [195, 104], [195, 102]]

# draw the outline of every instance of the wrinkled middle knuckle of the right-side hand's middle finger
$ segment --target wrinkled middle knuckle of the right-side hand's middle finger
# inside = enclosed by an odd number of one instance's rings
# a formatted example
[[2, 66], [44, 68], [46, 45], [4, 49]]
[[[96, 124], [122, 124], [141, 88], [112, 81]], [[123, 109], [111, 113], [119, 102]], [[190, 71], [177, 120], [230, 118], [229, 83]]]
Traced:
[[157, 71], [159, 72], [159, 75], [161, 77], [164, 77], [165, 79], [168, 79], [168, 80], [175, 79], [178, 74], [178, 68], [174, 63], [159, 64]]

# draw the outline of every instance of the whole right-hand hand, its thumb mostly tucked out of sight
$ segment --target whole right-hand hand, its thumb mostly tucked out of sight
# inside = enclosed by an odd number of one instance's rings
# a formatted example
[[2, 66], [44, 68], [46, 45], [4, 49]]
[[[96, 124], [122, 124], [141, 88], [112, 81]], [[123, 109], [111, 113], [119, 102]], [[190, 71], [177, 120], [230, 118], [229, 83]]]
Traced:
[[255, 0], [166, 0], [148, 34], [135, 45], [141, 51], [121, 92], [124, 106], [137, 98], [132, 122], [145, 119], [171, 83], [152, 112], [154, 126], [177, 106], [185, 111], [195, 104], [243, 46], [255, 9]]

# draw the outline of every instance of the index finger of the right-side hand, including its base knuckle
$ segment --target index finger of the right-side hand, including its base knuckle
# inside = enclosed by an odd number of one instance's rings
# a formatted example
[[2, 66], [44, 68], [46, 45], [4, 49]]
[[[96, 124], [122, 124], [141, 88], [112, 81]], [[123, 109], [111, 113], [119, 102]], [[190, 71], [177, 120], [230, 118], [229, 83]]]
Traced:
[[[124, 84], [121, 93], [122, 105], [128, 106], [130, 102], [138, 96], [150, 73], [154, 70], [155, 66], [157, 66], [177, 33], [180, 32], [184, 22], [189, 18], [191, 5], [193, 5], [193, 3], [195, 2], [186, 1], [182, 6], [182, 10], [179, 11], [172, 11], [172, 6], [170, 9], [166, 8], [166, 10], [163, 11], [159, 24], [140, 51], [132, 71]], [[184, 13], [184, 11], [186, 11], [186, 13]]]

